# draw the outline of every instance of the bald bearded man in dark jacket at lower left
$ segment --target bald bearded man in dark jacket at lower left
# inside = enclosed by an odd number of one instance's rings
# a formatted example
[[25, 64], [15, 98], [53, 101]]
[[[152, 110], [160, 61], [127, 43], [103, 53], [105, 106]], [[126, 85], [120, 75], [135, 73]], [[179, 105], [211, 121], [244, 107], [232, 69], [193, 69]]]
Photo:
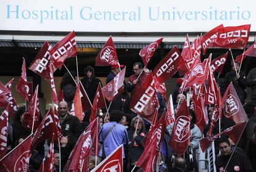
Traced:
[[79, 118], [70, 115], [68, 112], [67, 102], [59, 102], [59, 123], [61, 125], [61, 169], [64, 168], [70, 152], [75, 146], [77, 139], [82, 133]]

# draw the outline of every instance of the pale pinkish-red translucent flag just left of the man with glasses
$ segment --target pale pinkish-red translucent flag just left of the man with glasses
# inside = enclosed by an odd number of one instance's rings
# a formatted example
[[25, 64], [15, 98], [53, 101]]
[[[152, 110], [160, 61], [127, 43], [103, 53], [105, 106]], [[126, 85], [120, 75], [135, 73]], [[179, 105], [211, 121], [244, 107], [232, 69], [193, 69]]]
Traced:
[[110, 102], [114, 99], [114, 96], [119, 94], [119, 89], [124, 84], [124, 75], [126, 75], [126, 67], [119, 72], [114, 79], [111, 80], [105, 87], [102, 88], [103, 95]]

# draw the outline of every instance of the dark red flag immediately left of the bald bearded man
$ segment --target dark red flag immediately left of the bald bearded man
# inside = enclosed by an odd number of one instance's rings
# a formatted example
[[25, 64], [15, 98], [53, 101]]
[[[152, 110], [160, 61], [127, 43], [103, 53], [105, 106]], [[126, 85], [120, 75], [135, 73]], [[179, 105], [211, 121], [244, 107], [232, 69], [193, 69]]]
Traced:
[[58, 138], [58, 123], [56, 123], [55, 119], [56, 117], [54, 117], [53, 109], [50, 108], [35, 131], [31, 142], [31, 150], [35, 149], [38, 142], [46, 139], [51, 139], [51, 137], [53, 137], [53, 134], [54, 139]]

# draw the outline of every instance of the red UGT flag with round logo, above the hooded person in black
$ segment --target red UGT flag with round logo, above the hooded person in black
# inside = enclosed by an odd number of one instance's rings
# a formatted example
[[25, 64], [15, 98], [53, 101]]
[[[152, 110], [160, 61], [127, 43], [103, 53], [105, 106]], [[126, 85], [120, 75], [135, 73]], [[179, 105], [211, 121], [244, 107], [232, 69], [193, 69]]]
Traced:
[[108, 41], [102, 47], [96, 57], [95, 66], [111, 66], [117, 63], [116, 49], [114, 48], [113, 39], [109, 36]]

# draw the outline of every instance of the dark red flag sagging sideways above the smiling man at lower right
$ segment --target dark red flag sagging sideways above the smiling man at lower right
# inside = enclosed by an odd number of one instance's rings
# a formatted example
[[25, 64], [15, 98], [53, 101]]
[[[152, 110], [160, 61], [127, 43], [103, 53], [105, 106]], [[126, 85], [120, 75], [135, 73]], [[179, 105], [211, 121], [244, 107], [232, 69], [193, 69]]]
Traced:
[[244, 128], [245, 128], [246, 124], [247, 124], [247, 121], [242, 122], [242, 123], [238, 123], [234, 126], [231, 126], [227, 129], [225, 129], [224, 131], [221, 131], [221, 133], [218, 133], [214, 136], [204, 137], [203, 139], [200, 140], [200, 147], [201, 147], [202, 151], [205, 152], [205, 150], [211, 144], [211, 142], [215, 141], [215, 139], [218, 139], [218, 137], [220, 137], [222, 134], [226, 135], [226, 136], [229, 136], [229, 138], [235, 144], [237, 144], [242, 132], [244, 131]]

